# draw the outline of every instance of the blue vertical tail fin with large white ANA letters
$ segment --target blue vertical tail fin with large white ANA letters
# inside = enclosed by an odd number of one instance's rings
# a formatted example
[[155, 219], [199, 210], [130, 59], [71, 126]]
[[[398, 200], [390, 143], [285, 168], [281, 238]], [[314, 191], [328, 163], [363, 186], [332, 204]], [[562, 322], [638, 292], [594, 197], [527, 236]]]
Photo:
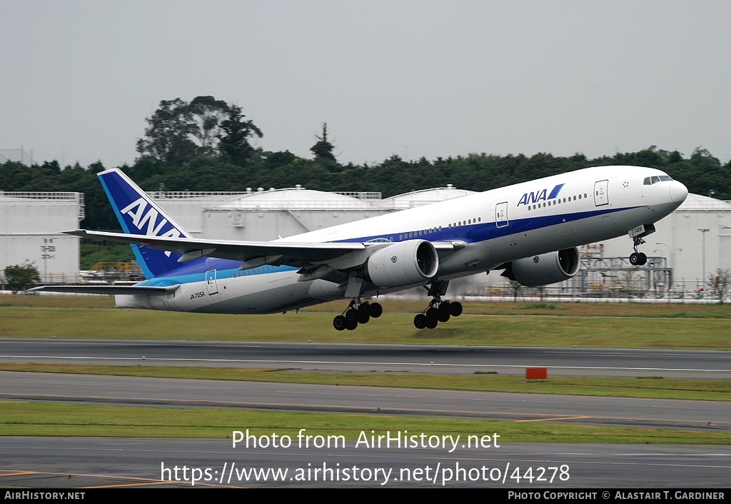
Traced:
[[[173, 217], [160, 208], [121, 170], [112, 168], [99, 172], [99, 180], [102, 182], [102, 187], [104, 187], [107, 198], [112, 203], [114, 213], [125, 233], [191, 238]], [[135, 257], [147, 279], [157, 277], [180, 266], [178, 258], [181, 255], [176, 252], [165, 252], [137, 245], [132, 245], [132, 251], [135, 252]]]

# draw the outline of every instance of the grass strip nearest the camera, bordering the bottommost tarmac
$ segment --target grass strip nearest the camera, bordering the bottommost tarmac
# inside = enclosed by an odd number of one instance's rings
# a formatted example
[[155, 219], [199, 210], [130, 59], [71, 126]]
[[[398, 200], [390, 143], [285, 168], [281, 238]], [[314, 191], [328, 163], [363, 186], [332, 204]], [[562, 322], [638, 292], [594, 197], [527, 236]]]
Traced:
[[[171, 414], [171, 411], [174, 412]], [[493, 435], [502, 443], [615, 443], [728, 445], [723, 432], [632, 429], [568, 424], [518, 423], [390, 415], [260, 412], [0, 402], [0, 435], [86, 437], [182, 437], [226, 439], [233, 430], [289, 435], [300, 429], [356, 440], [362, 430], [406, 430], [430, 435]]]

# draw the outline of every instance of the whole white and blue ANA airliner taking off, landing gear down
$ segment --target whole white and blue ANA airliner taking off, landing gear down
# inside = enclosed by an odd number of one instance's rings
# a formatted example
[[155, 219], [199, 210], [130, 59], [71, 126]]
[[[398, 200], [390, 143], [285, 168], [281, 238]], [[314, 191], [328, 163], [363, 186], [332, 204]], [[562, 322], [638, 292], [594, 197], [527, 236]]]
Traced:
[[577, 246], [629, 234], [637, 252], [655, 222], [688, 189], [654, 168], [602, 166], [515, 184], [276, 241], [193, 238], [120, 170], [99, 179], [124, 233], [75, 230], [84, 238], [132, 245], [145, 280], [133, 286], [34, 290], [106, 293], [117, 306], [205, 313], [275, 313], [343, 299], [338, 330], [382, 314], [380, 294], [425, 286], [414, 317], [434, 328], [461, 315], [443, 300], [450, 279], [503, 269], [527, 287], [573, 277]]

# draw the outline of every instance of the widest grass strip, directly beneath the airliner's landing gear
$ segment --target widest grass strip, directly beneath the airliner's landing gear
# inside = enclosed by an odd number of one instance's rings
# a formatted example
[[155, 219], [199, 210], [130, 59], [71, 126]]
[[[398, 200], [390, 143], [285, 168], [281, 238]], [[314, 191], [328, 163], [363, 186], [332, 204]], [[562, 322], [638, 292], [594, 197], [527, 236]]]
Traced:
[[[82, 306], [72, 308], [73, 301]], [[419, 331], [412, 320], [422, 304], [385, 301], [379, 319], [335, 331], [332, 319], [342, 303], [285, 315], [152, 312], [111, 303], [88, 296], [0, 296], [0, 337], [731, 349], [728, 305], [474, 303], [461, 317]]]

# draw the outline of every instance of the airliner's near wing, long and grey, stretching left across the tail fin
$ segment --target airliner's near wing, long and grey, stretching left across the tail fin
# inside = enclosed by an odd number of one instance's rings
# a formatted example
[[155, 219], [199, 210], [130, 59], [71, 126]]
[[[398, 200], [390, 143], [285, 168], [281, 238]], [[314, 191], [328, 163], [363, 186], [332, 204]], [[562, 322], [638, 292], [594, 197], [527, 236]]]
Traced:
[[[300, 243], [292, 241], [200, 240], [197, 238], [170, 238], [166, 236], [107, 233], [104, 231], [88, 231], [83, 229], [64, 231], [64, 234], [80, 236], [82, 238], [104, 238], [105, 240], [119, 241], [126, 244], [147, 246], [151, 249], [177, 252], [181, 254], [181, 257], [178, 259], [178, 262], [181, 263], [207, 256], [239, 260], [251, 268], [261, 266], [262, 264], [269, 264], [271, 266], [311, 266], [323, 264], [351, 252], [363, 251], [368, 247], [387, 247], [390, 244], [390, 242]], [[433, 245], [440, 256], [445, 252], [453, 251], [463, 246], [461, 242], [435, 242]]]

